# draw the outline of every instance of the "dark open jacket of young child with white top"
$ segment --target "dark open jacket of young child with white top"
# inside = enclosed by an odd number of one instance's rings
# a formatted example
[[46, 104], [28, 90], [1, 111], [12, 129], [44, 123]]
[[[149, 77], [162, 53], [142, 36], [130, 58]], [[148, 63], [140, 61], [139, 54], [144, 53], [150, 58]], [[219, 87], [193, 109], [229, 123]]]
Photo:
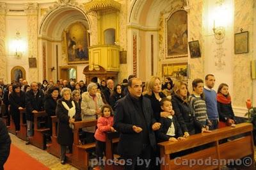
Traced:
[[175, 138], [178, 137], [182, 137], [182, 130], [180, 128], [180, 124], [177, 121], [177, 118], [175, 115], [173, 115], [173, 118], [160, 118], [159, 123], [161, 123], [161, 127], [159, 128], [159, 130], [156, 131], [156, 136], [157, 136], [157, 142], [161, 143], [163, 141], [168, 141], [169, 138], [171, 137], [170, 135], [166, 135], [166, 133], [168, 132], [169, 127], [172, 125], [174, 125], [175, 128]]

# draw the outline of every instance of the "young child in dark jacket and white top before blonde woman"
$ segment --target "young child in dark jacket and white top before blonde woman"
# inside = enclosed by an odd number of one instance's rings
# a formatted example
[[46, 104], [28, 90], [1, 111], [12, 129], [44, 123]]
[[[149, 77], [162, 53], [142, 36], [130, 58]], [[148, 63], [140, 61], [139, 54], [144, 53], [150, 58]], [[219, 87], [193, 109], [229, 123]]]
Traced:
[[169, 112], [171, 116], [167, 118], [161, 117], [159, 119], [161, 127], [156, 132], [158, 142], [184, 140], [185, 138], [182, 137], [182, 129], [172, 109], [171, 100], [169, 98], [162, 98], [160, 105], [161, 109], [164, 112]]

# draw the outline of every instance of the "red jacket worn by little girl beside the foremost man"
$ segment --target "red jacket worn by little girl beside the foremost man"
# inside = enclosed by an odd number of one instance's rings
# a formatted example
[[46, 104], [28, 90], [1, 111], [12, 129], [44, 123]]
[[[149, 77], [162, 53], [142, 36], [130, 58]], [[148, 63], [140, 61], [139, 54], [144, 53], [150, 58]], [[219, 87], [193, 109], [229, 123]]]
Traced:
[[110, 127], [113, 127], [113, 116], [105, 118], [100, 116], [97, 122], [97, 130], [94, 134], [95, 139], [98, 141], [106, 142], [106, 134], [104, 132], [110, 131]]

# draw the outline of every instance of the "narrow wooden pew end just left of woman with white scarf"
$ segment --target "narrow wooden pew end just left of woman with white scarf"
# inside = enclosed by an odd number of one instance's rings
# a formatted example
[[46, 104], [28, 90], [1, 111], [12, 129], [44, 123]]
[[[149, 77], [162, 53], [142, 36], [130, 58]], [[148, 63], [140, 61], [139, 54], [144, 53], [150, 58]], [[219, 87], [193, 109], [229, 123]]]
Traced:
[[52, 143], [47, 144], [47, 152], [51, 153], [56, 157], [60, 157], [60, 144], [57, 142], [57, 116], [51, 116], [52, 119], [52, 135], [51, 141]]

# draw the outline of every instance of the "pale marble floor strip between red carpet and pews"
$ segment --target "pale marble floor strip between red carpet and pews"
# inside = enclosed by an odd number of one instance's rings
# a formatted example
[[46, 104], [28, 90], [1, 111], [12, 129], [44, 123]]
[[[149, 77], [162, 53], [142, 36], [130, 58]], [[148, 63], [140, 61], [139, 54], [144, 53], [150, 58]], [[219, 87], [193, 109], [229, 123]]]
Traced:
[[10, 137], [12, 139], [12, 144], [20, 148], [20, 150], [28, 153], [31, 157], [35, 158], [45, 166], [49, 167], [50, 169], [54, 170], [64, 170], [64, 169], [77, 169], [76, 167], [71, 166], [70, 164], [62, 165], [60, 163], [60, 158], [57, 158], [49, 153], [47, 153], [46, 150], [41, 150], [39, 148], [36, 148], [35, 146], [28, 144], [25, 144], [25, 141], [22, 139], [19, 139], [17, 136], [10, 134]]

